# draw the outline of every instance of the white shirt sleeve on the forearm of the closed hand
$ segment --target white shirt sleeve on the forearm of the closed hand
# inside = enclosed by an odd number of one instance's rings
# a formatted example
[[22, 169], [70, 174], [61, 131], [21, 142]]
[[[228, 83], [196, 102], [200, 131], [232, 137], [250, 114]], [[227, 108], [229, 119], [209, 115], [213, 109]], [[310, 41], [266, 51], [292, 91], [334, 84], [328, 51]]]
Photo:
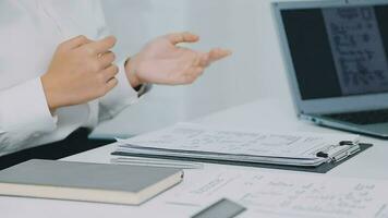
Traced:
[[28, 141], [57, 128], [40, 77], [0, 90], [0, 156], [34, 146]]

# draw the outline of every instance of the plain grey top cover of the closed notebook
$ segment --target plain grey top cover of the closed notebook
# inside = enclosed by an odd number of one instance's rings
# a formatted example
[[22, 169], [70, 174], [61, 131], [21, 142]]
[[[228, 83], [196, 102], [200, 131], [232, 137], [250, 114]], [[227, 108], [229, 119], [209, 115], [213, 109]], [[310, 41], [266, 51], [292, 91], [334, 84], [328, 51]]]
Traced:
[[181, 171], [174, 168], [33, 159], [0, 171], [0, 183], [136, 194]]

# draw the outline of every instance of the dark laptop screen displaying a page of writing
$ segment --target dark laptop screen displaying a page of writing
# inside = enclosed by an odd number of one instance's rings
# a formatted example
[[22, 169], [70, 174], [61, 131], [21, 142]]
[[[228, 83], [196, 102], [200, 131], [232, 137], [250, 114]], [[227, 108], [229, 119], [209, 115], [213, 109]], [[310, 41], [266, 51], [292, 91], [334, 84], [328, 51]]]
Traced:
[[303, 100], [388, 92], [388, 5], [281, 11]]

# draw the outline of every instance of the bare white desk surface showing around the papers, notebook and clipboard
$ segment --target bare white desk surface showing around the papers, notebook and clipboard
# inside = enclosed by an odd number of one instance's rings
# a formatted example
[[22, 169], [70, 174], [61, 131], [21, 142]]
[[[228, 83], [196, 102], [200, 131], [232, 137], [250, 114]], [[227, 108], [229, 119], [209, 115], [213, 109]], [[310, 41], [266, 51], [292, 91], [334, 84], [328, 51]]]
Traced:
[[[298, 121], [293, 114], [291, 104], [289, 101], [280, 100], [260, 100], [251, 102], [198, 119], [195, 122], [210, 126], [221, 125], [241, 129], [336, 132], [334, 130], [323, 129]], [[363, 140], [374, 143], [374, 147], [335, 168], [325, 177], [335, 175], [388, 180], [388, 170], [386, 169], [388, 167], [388, 143], [386, 141], [369, 137], [364, 137]], [[114, 145], [112, 144], [68, 157], [65, 160], [109, 162], [111, 158], [109, 154], [113, 150]], [[211, 172], [219, 169], [268, 170], [206, 164], [205, 168], [202, 170], [186, 170], [183, 182], [195, 183], [196, 179], [201, 178], [204, 171]], [[291, 172], [282, 170], [270, 171], [279, 173]], [[0, 197], [0, 217], [187, 217], [198, 209], [195, 207], [169, 205], [163, 199], [166, 193], [140, 207], [68, 201]]]

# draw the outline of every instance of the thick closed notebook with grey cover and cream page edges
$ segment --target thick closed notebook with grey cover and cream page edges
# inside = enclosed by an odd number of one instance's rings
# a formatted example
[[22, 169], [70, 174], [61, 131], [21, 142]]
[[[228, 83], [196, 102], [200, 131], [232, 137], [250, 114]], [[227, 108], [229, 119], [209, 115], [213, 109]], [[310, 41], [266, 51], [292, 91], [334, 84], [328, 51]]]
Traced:
[[34, 159], [0, 171], [0, 195], [138, 205], [182, 178], [173, 168]]

